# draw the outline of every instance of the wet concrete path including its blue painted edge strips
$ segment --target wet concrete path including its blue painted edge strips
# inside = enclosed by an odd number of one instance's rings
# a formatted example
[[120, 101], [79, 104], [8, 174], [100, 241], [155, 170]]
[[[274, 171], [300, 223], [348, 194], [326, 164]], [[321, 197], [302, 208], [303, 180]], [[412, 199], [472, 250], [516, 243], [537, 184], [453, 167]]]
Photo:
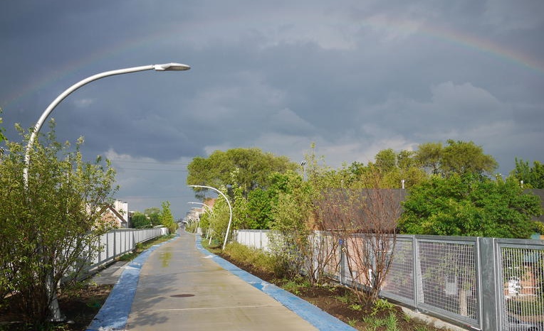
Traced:
[[88, 330], [355, 330], [180, 237], [124, 267]]

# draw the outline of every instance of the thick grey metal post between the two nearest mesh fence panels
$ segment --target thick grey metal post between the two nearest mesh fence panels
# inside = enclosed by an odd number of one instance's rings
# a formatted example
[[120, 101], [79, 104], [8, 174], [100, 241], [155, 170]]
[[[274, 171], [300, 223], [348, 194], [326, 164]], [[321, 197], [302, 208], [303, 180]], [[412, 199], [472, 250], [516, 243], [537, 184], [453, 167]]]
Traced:
[[[478, 299], [481, 303], [481, 312], [478, 316], [483, 330], [499, 330], [498, 318], [498, 288], [502, 288], [503, 280], [499, 279], [498, 256], [494, 238], [478, 237], [480, 291]], [[478, 264], [476, 264], [478, 267]]]

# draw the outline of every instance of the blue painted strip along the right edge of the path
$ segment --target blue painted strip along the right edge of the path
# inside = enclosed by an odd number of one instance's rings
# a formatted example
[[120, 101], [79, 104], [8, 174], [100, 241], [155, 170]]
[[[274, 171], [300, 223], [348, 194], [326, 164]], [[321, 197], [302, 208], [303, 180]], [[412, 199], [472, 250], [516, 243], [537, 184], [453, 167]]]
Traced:
[[317, 327], [318, 330], [357, 331], [355, 328], [350, 327], [350, 325], [347, 325], [345, 322], [335, 318], [333, 315], [330, 315], [315, 305], [308, 303], [308, 301], [298, 298], [298, 296], [294, 295], [293, 293], [285, 291], [272, 283], [263, 281], [261, 278], [253, 276], [251, 273], [242, 270], [238, 266], [231, 264], [229, 261], [222, 259], [220, 256], [211, 253], [207, 249], [204, 249], [202, 246], [202, 237], [195, 235], [195, 242], [197, 244], [197, 249], [199, 249], [199, 251], [201, 251], [206, 257], [213, 259], [216, 264], [221, 266], [221, 268], [233, 273], [263, 293], [270, 295], [276, 301], [286, 306], [286, 308], [293, 311], [304, 320], [310, 322], [310, 324], [314, 327]]

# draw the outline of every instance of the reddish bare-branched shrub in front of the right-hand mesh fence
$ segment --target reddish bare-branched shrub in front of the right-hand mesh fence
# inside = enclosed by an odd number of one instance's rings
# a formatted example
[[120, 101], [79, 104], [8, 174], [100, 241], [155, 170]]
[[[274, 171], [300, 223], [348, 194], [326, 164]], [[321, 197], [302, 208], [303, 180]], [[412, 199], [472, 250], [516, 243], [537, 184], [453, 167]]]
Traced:
[[326, 226], [344, 243], [352, 289], [365, 304], [377, 299], [389, 271], [401, 213], [402, 191], [380, 188], [381, 178], [370, 169], [360, 188], [323, 195], [330, 209]]

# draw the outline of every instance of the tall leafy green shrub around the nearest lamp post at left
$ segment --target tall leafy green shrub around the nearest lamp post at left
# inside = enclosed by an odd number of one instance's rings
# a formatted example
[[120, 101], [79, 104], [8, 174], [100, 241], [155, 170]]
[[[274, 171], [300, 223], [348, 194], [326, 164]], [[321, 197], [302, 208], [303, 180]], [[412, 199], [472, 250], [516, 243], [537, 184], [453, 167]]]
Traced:
[[95, 238], [107, 230], [100, 210], [115, 191], [109, 162], [83, 162], [83, 139], [73, 151], [56, 141], [52, 124], [43, 140], [31, 148], [28, 185], [20, 143], [6, 143], [0, 162], [0, 295], [20, 293], [36, 325], [47, 320], [61, 278], [75, 279], [85, 251], [99, 251]]

